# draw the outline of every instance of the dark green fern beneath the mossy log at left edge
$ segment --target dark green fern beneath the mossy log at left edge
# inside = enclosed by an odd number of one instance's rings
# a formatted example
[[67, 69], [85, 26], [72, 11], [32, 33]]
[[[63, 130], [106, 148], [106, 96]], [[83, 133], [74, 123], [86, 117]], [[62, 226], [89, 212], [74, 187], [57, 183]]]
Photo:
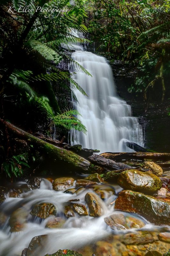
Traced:
[[2, 171], [4, 171], [10, 178], [12, 178], [13, 175], [15, 177], [20, 177], [23, 174], [24, 167], [30, 168], [28, 165], [28, 155], [26, 153], [7, 158], [2, 163]]

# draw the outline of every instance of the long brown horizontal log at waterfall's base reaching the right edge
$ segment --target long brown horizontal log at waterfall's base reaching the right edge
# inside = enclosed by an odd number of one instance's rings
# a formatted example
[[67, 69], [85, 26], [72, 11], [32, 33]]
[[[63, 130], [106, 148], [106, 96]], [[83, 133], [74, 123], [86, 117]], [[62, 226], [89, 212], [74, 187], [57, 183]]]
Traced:
[[100, 154], [100, 156], [104, 156], [107, 159], [111, 159], [113, 161], [121, 161], [121, 160], [154, 160], [154, 161], [169, 161], [170, 154], [169, 153], [147, 153], [147, 152], [132, 152], [132, 153], [112, 153], [106, 152]]

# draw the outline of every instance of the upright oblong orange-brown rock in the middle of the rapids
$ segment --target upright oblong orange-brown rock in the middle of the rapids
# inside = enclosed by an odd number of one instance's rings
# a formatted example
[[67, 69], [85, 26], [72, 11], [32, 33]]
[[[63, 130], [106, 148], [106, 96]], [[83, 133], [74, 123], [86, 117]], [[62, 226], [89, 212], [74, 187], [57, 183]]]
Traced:
[[89, 207], [90, 216], [100, 217], [102, 215], [102, 201], [99, 196], [94, 193], [87, 193], [85, 195], [85, 201]]

